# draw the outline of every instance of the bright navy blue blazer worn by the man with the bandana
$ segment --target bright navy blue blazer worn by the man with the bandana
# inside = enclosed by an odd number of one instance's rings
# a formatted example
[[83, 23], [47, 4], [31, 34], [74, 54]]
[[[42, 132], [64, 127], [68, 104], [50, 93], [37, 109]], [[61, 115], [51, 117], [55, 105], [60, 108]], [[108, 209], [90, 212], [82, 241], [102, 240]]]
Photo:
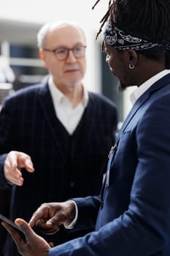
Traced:
[[96, 231], [49, 256], [170, 255], [170, 75], [147, 89], [125, 119], [101, 197], [75, 201], [75, 229]]

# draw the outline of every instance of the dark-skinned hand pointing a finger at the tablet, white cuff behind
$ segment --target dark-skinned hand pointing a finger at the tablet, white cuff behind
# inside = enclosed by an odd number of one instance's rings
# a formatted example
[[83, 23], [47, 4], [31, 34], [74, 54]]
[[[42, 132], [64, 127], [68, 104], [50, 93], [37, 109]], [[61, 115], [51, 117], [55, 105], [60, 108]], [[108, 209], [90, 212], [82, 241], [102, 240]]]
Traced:
[[52, 235], [60, 229], [60, 225], [69, 224], [75, 217], [75, 206], [72, 201], [63, 203], [43, 203], [29, 221], [31, 227], [36, 226], [42, 233]]

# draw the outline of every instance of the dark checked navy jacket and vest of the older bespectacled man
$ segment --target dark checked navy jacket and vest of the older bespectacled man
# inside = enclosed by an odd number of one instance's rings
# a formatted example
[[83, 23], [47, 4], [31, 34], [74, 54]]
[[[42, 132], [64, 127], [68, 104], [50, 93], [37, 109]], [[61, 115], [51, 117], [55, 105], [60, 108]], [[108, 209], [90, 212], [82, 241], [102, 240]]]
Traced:
[[[69, 134], [55, 115], [47, 84], [30, 86], [5, 99], [0, 113], [1, 188], [9, 187], [3, 170], [9, 151], [29, 154], [35, 168], [34, 173], [23, 170], [23, 187], [12, 187], [12, 219], [23, 217], [28, 221], [45, 202], [99, 194], [117, 129], [115, 104], [100, 94], [89, 92], [82, 119], [74, 154], [68, 156], [65, 145], [68, 145]], [[72, 173], [68, 162], [71, 157], [74, 159]], [[66, 233], [58, 234], [58, 243], [66, 241], [66, 236]], [[9, 247], [8, 244], [6, 249]]]

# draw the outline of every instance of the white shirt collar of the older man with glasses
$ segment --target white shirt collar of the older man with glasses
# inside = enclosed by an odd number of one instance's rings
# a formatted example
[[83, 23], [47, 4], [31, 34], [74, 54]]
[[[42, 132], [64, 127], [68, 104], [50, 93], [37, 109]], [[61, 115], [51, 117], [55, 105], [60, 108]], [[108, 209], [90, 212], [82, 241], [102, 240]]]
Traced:
[[[56, 105], [60, 105], [62, 100], [68, 101], [68, 98], [55, 86], [55, 83], [53, 82], [53, 77], [50, 75], [50, 78], [48, 80], [48, 85], [50, 89], [50, 94], [52, 95], [53, 101]], [[85, 86], [83, 86], [83, 98], [82, 98], [82, 105], [84, 108], [88, 105], [88, 90], [85, 89]]]

